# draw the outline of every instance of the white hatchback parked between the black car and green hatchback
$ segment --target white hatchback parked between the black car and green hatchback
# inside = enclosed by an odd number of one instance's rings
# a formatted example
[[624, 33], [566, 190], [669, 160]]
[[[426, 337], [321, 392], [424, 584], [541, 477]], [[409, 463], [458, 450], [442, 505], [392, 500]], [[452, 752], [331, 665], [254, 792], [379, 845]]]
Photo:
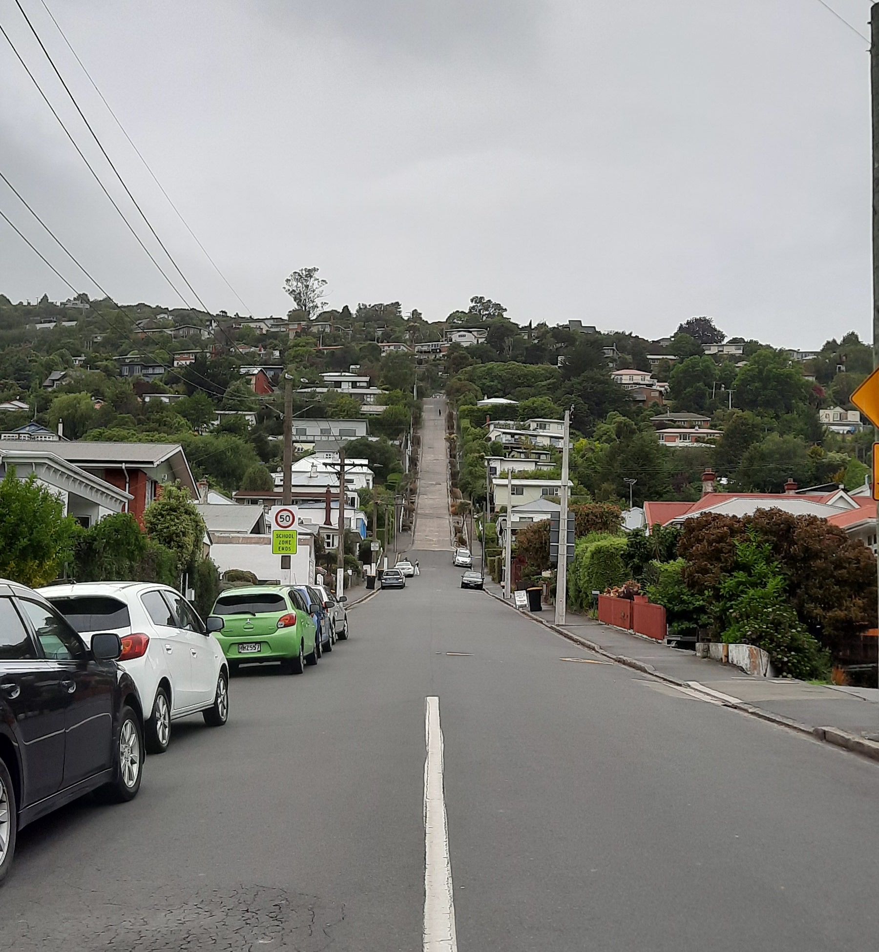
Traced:
[[119, 663], [129, 672], [144, 708], [147, 750], [168, 749], [170, 724], [202, 712], [211, 727], [229, 718], [229, 665], [208, 625], [173, 588], [145, 582], [89, 582], [38, 589], [82, 636], [99, 632], [122, 641]]

